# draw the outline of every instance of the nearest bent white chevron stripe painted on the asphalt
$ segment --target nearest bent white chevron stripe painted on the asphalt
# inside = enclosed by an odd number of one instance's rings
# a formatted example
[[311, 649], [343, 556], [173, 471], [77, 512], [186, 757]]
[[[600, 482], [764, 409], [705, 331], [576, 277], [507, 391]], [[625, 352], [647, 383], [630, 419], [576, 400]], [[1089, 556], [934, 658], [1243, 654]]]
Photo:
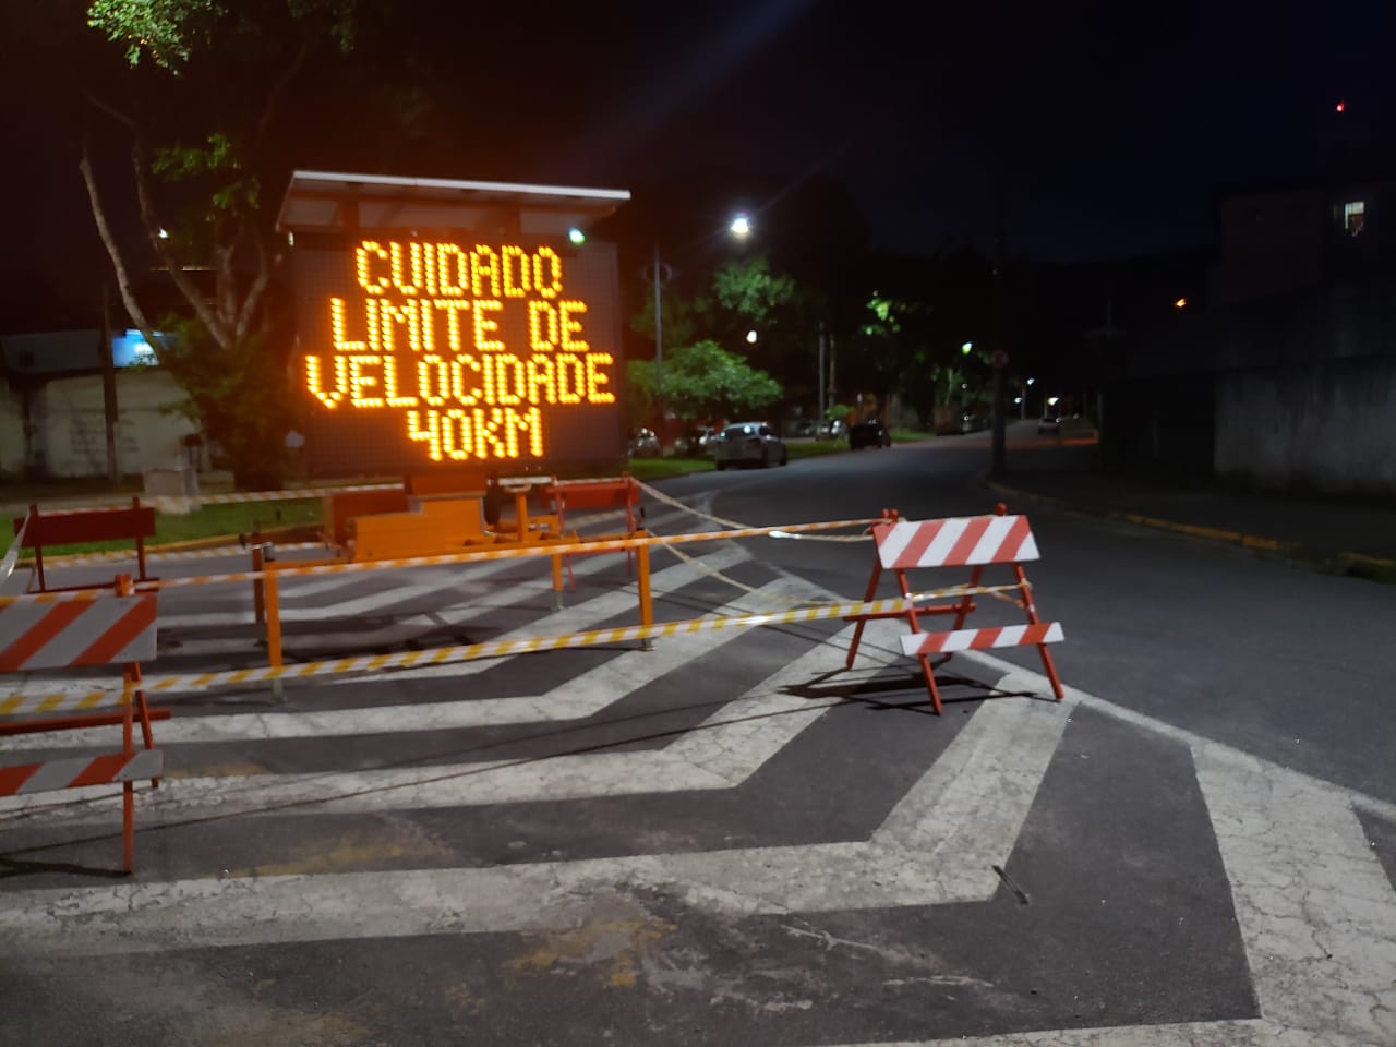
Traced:
[[[817, 653], [826, 663], [839, 652]], [[794, 670], [797, 663], [759, 690], [807, 678], [810, 666]], [[64, 956], [529, 931], [574, 926], [599, 898], [644, 889], [741, 914], [983, 900], [998, 888], [991, 866], [1008, 860], [1036, 793], [1036, 785], [1025, 790], [1022, 780], [1041, 779], [1065, 720], [1058, 705], [987, 702], [866, 843], [29, 891], [0, 910], [0, 938], [24, 941], [27, 956]], [[730, 744], [741, 744], [740, 736]], [[642, 762], [658, 766], [649, 755], [628, 754], [628, 773]], [[1004, 775], [1005, 764], [1025, 765], [1022, 778]], [[981, 817], [1005, 807], [1012, 808], [1008, 817]]]

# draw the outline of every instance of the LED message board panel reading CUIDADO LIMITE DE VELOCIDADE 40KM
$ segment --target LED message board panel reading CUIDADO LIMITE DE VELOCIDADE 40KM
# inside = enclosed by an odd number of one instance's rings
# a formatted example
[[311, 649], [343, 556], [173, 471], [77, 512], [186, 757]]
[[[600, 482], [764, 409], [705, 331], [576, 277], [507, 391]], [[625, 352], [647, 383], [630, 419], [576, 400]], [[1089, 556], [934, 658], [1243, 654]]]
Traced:
[[610, 244], [374, 230], [297, 243], [293, 272], [310, 475], [624, 458]]

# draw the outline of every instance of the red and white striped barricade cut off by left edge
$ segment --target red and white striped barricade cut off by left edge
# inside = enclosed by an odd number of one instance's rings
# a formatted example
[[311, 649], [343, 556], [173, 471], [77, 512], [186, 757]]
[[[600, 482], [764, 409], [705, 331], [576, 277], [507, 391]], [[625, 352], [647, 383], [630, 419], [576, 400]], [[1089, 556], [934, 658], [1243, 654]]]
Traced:
[[[25, 695], [0, 691], [0, 715], [52, 713], [68, 709], [121, 706], [120, 712], [0, 723], [0, 734], [121, 725], [121, 751], [73, 757], [43, 764], [0, 766], [0, 796], [52, 789], [123, 783], [121, 840], [127, 872], [135, 854], [135, 782], [159, 783], [163, 754], [154, 747], [152, 719], [168, 709], [149, 709], [141, 690], [141, 662], [155, 658], [155, 593], [135, 593], [128, 575], [116, 579], [116, 595], [89, 600], [18, 600], [0, 606], [0, 673], [29, 673], [75, 666], [121, 666], [119, 681], [94, 680], [73, 695]], [[134, 744], [135, 723], [145, 743]]]

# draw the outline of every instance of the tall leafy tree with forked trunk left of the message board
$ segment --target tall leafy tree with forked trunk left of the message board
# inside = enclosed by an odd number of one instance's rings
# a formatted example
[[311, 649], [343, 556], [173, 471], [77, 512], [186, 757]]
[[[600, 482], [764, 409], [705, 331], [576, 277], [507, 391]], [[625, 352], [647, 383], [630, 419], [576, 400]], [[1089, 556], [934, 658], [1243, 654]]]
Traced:
[[[113, 229], [85, 134], [80, 172], [92, 216], [131, 321], [183, 384], [187, 413], [233, 459], [239, 486], [279, 482], [290, 427], [289, 336], [275, 296], [282, 242], [267, 198], [278, 169], [271, 145], [313, 60], [353, 46], [356, 7], [357, 0], [94, 0], [88, 7], [88, 25], [126, 63], [124, 82], [89, 91], [89, 101], [127, 140], [140, 225], [177, 292], [176, 318], [152, 317], [138, 293], [137, 255]], [[187, 99], [198, 99], [197, 107]], [[165, 327], [179, 336], [161, 338]]]

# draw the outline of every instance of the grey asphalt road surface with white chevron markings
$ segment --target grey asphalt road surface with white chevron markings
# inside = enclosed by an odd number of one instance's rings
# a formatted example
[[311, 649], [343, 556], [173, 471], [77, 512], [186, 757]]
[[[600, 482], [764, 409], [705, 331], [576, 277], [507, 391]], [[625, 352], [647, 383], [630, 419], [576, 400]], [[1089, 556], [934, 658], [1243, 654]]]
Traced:
[[[681, 477], [649, 522], [973, 515], [987, 456]], [[956, 655], [928, 715], [892, 623], [852, 671], [812, 623], [169, 702], [134, 877], [103, 790], [0, 800], [0, 1044], [1390, 1047], [1390, 589], [1030, 518], [1062, 704], [1005, 649]], [[681, 550], [655, 554], [662, 620], [860, 597], [872, 560]], [[528, 564], [304, 579], [288, 656], [635, 620], [623, 557], [575, 568], [561, 610]], [[169, 591], [148, 671], [258, 664], [248, 611]]]

